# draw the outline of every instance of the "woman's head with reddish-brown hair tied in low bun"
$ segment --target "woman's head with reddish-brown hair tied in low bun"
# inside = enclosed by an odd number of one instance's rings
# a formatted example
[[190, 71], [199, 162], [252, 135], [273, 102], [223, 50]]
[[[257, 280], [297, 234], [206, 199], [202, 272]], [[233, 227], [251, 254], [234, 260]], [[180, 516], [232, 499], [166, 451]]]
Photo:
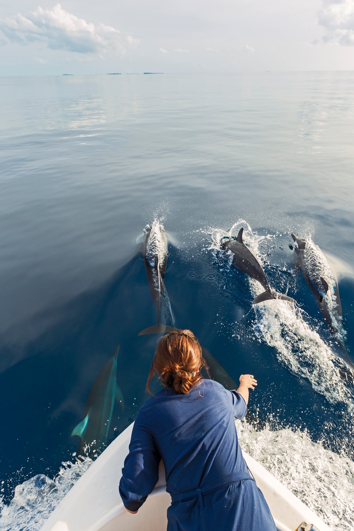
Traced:
[[157, 344], [146, 389], [154, 374], [165, 387], [173, 387], [177, 393], [188, 393], [202, 380], [201, 367], [208, 371], [202, 348], [191, 330], [174, 330], [163, 336]]

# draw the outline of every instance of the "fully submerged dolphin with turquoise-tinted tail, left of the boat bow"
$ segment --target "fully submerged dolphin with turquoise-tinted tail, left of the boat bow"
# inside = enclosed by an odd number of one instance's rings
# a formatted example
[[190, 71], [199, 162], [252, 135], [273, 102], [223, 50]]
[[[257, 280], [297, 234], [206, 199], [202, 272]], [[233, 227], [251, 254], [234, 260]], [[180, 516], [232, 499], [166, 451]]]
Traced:
[[85, 444], [92, 444], [96, 441], [96, 449], [106, 444], [115, 400], [124, 410], [123, 394], [116, 380], [118, 351], [119, 345], [114, 356], [109, 358], [94, 381], [85, 405], [84, 418], [71, 433], [71, 436], [80, 437], [77, 450], [79, 455], [83, 455]]

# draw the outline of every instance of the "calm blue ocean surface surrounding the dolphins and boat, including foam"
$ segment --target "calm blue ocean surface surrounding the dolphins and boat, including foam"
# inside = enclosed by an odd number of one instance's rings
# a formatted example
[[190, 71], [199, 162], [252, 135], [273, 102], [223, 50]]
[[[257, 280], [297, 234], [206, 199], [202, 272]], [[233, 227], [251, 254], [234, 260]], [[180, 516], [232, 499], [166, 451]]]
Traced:
[[[352, 72], [0, 78], [2, 531], [39, 529], [90, 465], [71, 432], [117, 344], [108, 442], [146, 399], [157, 337], [138, 333], [156, 311], [137, 249], [154, 219], [176, 326], [258, 380], [241, 445], [354, 528], [354, 383], [289, 247], [311, 237], [331, 263], [354, 359], [353, 87]], [[260, 286], [220, 252], [240, 227], [296, 306], [252, 306]]]

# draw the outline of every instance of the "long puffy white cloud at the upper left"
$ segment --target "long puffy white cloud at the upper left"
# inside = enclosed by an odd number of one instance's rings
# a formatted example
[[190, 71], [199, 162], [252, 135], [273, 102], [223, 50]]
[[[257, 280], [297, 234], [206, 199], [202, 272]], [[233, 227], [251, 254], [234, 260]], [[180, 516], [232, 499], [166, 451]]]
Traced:
[[11, 42], [23, 45], [42, 42], [52, 50], [68, 50], [80, 54], [125, 53], [136, 48], [139, 39], [123, 36], [105, 24], [92, 24], [64, 11], [60, 4], [51, 9], [37, 7], [27, 17], [21, 13], [0, 20], [0, 29]]

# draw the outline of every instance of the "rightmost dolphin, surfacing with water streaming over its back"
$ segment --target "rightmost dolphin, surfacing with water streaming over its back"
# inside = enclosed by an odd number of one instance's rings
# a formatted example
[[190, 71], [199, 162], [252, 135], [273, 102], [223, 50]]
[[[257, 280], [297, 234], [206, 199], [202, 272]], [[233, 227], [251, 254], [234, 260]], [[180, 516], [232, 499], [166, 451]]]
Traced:
[[[295, 268], [301, 269], [327, 328], [334, 336], [340, 336], [342, 332], [342, 304], [338, 280], [320, 247], [311, 238], [298, 238], [293, 233], [291, 233], [291, 237], [295, 242]], [[338, 337], [338, 344], [346, 355], [348, 363], [354, 368], [340, 337]]]

